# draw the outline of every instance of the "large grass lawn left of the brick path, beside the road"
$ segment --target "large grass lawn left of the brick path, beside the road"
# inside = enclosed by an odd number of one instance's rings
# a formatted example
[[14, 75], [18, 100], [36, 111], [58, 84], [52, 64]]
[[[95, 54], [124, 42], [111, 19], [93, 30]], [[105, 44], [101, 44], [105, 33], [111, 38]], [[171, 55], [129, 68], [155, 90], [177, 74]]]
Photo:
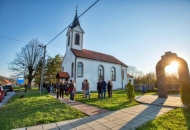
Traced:
[[[51, 122], [76, 119], [85, 115], [48, 94], [28, 92], [24, 98], [16, 94], [7, 105], [0, 108], [0, 129], [9, 130]], [[72, 113], [72, 114], [71, 114]]]

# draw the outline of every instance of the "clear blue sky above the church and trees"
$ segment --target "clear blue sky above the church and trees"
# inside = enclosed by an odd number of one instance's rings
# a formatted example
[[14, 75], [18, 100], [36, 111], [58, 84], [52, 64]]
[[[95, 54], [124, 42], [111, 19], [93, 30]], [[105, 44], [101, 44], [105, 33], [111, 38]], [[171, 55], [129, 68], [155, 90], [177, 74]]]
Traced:
[[[48, 43], [96, 0], [1, 0], [0, 36]], [[84, 48], [110, 54], [144, 73], [155, 71], [166, 51], [190, 65], [189, 0], [100, 0], [80, 19]], [[0, 37], [0, 75], [9, 76], [26, 43]], [[48, 45], [51, 56], [64, 55], [66, 31]]]

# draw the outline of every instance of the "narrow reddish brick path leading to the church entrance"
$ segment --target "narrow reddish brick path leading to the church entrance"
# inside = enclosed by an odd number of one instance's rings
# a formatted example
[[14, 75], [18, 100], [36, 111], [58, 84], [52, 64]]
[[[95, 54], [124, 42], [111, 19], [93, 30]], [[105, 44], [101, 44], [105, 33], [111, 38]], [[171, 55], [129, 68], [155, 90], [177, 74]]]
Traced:
[[[51, 95], [56, 98], [56, 94], [55, 93], [51, 93]], [[78, 101], [74, 101], [74, 102], [70, 102], [68, 98], [64, 98], [61, 99], [59, 98], [59, 100], [81, 112], [83, 112], [86, 115], [92, 116], [92, 115], [97, 115], [97, 114], [102, 114], [102, 113], [106, 113], [109, 112], [108, 110], [105, 109], [101, 109], [95, 106], [91, 106], [91, 105], [87, 105]]]

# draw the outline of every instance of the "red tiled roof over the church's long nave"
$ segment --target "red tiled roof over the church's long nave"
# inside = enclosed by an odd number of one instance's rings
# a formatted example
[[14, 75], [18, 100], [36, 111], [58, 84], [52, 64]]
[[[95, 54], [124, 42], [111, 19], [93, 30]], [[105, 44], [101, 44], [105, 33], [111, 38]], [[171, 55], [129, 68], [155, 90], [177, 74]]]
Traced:
[[126, 64], [124, 64], [123, 62], [121, 62], [120, 60], [116, 59], [115, 57], [113, 57], [111, 55], [107, 55], [107, 54], [103, 54], [103, 53], [99, 53], [99, 52], [95, 52], [95, 51], [90, 51], [90, 50], [86, 50], [86, 49], [83, 49], [83, 50], [71, 49], [71, 51], [77, 57], [105, 61], [105, 62], [109, 62], [109, 63], [120, 64], [122, 66], [127, 67]]

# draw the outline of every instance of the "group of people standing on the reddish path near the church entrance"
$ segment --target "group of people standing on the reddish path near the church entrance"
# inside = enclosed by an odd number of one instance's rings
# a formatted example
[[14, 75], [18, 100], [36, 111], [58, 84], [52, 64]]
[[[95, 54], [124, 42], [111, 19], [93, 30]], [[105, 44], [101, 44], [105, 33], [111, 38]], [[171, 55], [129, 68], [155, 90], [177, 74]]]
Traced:
[[60, 81], [57, 82], [56, 86], [56, 90], [57, 90], [57, 99], [58, 98], [64, 98], [64, 95], [66, 96], [66, 98], [68, 98], [68, 95], [70, 95], [70, 101], [73, 102], [74, 101], [74, 96], [76, 95], [76, 84], [75, 81], [70, 80], [70, 82], [68, 82], [67, 80], [65, 80], [65, 82]]

